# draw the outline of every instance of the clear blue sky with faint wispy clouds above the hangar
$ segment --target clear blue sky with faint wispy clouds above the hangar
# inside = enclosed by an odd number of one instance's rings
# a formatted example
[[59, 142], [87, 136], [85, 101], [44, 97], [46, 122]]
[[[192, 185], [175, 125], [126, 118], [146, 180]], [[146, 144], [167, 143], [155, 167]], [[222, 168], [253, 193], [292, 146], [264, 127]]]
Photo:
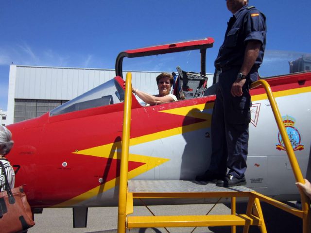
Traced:
[[[288, 73], [288, 61], [311, 53], [311, 0], [249, 4], [267, 17], [260, 74]], [[0, 0], [0, 108], [7, 108], [12, 62], [114, 69], [123, 50], [213, 37], [214, 47], [207, 50], [207, 72], [213, 73], [230, 16], [224, 0]], [[125, 61], [124, 69], [198, 71], [195, 55]]]

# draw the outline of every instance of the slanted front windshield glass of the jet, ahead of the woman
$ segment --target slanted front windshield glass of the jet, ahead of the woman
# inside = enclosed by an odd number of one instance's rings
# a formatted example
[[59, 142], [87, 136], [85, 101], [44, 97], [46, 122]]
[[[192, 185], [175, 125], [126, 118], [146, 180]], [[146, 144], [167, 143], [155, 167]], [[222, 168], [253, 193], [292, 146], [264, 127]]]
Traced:
[[109, 80], [94, 89], [78, 96], [50, 112], [50, 116], [70, 113], [88, 108], [105, 106], [124, 101], [124, 90], [115, 80]]

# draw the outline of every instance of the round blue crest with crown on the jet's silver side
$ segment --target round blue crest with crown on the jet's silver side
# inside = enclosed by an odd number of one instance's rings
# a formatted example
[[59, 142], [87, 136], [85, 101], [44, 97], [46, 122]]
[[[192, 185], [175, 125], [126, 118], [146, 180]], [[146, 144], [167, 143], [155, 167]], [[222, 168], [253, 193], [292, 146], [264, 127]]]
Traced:
[[[288, 134], [288, 137], [290, 139], [290, 142], [292, 144], [293, 150], [303, 150], [304, 149], [304, 145], [300, 144], [301, 142], [301, 136], [299, 131], [294, 127], [295, 125], [295, 118], [292, 116], [283, 116], [282, 117], [285, 129], [286, 129], [286, 133]], [[276, 149], [277, 150], [286, 150], [284, 143], [283, 143], [283, 139], [281, 134], [278, 132], [277, 134], [277, 138], [278, 138], [278, 144], [276, 144]]]

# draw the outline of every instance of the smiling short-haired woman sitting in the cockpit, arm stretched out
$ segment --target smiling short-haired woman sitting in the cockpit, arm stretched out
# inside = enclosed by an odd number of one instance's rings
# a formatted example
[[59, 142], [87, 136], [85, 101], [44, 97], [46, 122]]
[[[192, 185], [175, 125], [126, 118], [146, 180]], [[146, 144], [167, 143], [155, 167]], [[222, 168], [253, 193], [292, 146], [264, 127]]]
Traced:
[[132, 92], [146, 103], [146, 106], [177, 101], [176, 96], [170, 94], [174, 78], [171, 74], [161, 73], [156, 77], [156, 84], [159, 90], [158, 95], [150, 95], [132, 87]]

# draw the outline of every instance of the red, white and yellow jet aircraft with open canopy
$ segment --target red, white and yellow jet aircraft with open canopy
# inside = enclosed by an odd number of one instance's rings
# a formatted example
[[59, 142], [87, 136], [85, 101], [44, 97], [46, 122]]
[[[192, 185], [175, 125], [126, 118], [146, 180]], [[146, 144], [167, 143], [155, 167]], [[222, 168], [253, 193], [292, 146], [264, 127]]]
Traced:
[[[15, 145], [7, 158], [16, 168], [16, 185], [25, 185], [31, 206], [85, 211], [87, 207], [117, 205], [124, 57], [200, 50], [200, 74], [179, 69], [184, 82], [188, 79], [192, 85], [184, 89], [186, 100], [142, 106], [133, 98], [128, 177], [193, 180], [202, 174], [211, 154], [215, 95], [213, 86], [206, 87], [205, 57], [213, 42], [205, 38], [121, 52], [114, 79], [43, 116], [9, 125]], [[302, 173], [310, 176], [311, 72], [265, 80], [274, 92]], [[293, 172], [265, 91], [259, 87], [251, 90], [251, 95], [246, 186], [279, 200], [297, 200]]]

